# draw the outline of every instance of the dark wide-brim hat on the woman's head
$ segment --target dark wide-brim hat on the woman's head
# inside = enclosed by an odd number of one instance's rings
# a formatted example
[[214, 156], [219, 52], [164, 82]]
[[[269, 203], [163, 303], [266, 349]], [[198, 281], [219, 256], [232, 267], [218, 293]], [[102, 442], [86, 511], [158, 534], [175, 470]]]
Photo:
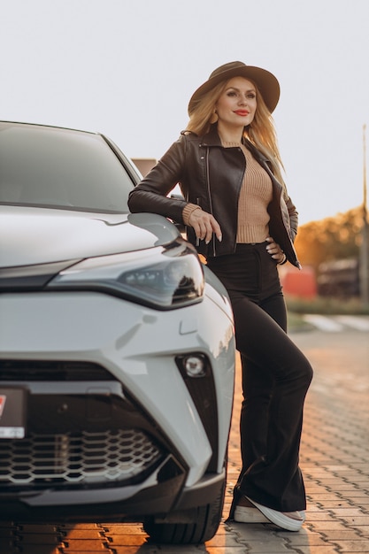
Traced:
[[205, 92], [209, 92], [211, 88], [218, 85], [221, 81], [229, 81], [232, 77], [250, 79], [250, 81], [255, 83], [258, 87], [269, 112], [272, 113], [275, 110], [278, 100], [280, 99], [281, 88], [280, 83], [277, 81], [276, 77], [274, 77], [273, 73], [261, 67], [245, 65], [242, 62], [229, 62], [229, 64], [220, 65], [220, 67], [214, 69], [208, 81], [205, 81], [201, 87], [197, 88], [188, 103], [188, 114], [191, 115], [195, 109], [196, 103]]

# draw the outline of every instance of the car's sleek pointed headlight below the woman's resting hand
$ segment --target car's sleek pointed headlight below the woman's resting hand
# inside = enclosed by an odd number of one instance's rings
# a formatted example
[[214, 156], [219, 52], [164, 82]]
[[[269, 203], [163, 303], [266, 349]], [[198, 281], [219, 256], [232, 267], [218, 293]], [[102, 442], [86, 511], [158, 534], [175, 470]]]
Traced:
[[167, 249], [88, 258], [58, 273], [48, 289], [99, 290], [173, 310], [202, 299], [204, 271], [196, 252], [180, 242]]

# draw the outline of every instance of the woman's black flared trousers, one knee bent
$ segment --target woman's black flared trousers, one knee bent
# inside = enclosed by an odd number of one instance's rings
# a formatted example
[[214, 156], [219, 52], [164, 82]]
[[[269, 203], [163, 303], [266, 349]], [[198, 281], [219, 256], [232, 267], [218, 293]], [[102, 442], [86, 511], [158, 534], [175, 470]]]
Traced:
[[234, 505], [246, 495], [293, 512], [306, 507], [298, 461], [312, 369], [287, 335], [281, 282], [266, 245], [238, 244], [234, 254], [210, 258], [208, 266], [230, 296], [242, 360], [242, 471]]

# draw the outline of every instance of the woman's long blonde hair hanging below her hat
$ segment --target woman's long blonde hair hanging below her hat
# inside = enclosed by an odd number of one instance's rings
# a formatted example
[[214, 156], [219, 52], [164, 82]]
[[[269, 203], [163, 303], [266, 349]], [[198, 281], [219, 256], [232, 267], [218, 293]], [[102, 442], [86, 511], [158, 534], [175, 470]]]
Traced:
[[[209, 92], [201, 96], [194, 105], [193, 111], [190, 113], [187, 131], [196, 133], [196, 135], [205, 135], [211, 126], [211, 118], [214, 115], [215, 104], [219, 97], [227, 88], [228, 81], [222, 81]], [[265, 105], [263, 96], [255, 82], [253, 83], [257, 91], [257, 110], [255, 117], [249, 127], [245, 127], [243, 136], [247, 138], [272, 164], [272, 169], [275, 177], [281, 182], [285, 189], [285, 183], [282, 177], [284, 170], [281, 161], [281, 154], [277, 143], [277, 134], [274, 127], [273, 117]]]

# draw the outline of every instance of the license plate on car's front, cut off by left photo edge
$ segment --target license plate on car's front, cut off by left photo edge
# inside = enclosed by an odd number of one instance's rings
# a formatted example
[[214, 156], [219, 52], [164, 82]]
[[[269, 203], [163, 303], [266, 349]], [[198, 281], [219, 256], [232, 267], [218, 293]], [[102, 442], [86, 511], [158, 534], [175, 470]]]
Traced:
[[26, 435], [26, 389], [0, 387], [0, 439]]

